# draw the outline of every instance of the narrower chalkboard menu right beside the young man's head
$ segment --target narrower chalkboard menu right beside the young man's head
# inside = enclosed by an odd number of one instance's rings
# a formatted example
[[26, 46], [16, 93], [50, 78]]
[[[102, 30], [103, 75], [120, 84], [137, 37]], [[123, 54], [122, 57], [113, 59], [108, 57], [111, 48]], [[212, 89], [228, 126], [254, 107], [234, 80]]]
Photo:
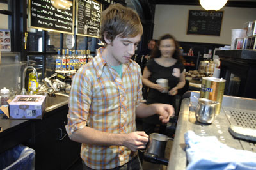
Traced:
[[78, 0], [76, 11], [76, 34], [99, 37], [102, 4], [94, 0]]

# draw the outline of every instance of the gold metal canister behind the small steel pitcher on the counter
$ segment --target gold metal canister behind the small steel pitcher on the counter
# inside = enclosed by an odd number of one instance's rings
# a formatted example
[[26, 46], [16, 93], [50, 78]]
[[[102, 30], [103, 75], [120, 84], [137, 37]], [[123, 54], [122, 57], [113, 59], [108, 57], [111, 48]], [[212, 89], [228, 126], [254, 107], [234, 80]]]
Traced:
[[218, 79], [215, 77], [203, 77], [201, 90], [200, 90], [200, 98], [207, 98], [212, 101], [219, 102], [216, 105], [215, 114], [220, 114], [222, 98], [224, 94], [226, 80]]

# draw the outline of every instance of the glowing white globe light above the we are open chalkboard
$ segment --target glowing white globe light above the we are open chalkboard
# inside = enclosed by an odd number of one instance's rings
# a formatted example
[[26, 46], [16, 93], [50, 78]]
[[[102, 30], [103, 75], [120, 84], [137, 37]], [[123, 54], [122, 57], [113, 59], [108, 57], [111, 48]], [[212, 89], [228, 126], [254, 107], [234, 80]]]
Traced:
[[220, 10], [228, 0], [200, 0], [201, 6], [205, 10]]

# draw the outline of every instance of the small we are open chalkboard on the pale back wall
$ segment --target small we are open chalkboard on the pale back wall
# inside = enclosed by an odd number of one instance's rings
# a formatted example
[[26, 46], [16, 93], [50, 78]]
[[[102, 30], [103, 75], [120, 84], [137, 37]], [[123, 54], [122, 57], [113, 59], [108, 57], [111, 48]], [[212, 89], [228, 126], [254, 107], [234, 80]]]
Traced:
[[223, 11], [189, 10], [187, 34], [220, 36]]

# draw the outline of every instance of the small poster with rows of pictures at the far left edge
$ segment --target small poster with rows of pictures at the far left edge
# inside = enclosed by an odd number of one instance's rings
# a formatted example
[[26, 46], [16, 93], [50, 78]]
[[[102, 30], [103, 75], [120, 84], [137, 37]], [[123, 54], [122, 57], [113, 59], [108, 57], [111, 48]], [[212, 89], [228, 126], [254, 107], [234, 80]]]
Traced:
[[0, 49], [1, 51], [11, 51], [11, 31], [0, 29]]

